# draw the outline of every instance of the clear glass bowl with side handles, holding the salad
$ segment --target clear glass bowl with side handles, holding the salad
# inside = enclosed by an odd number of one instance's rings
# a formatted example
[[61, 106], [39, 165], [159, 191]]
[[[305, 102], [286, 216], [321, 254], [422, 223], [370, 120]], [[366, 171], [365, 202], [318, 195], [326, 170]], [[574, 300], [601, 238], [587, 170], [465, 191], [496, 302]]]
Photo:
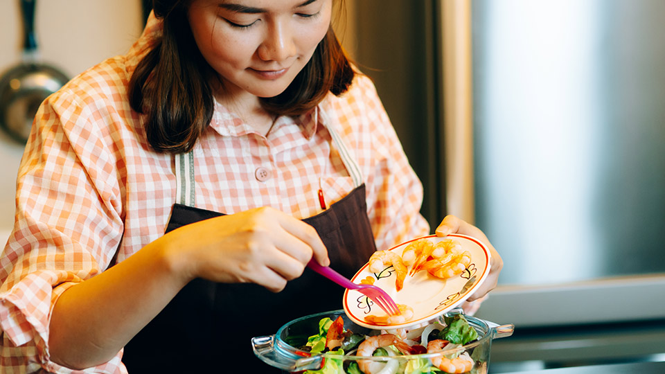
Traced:
[[[461, 309], [456, 309], [446, 315], [450, 317], [461, 313]], [[294, 319], [282, 326], [275, 335], [252, 338], [251, 346], [254, 349], [254, 354], [266, 364], [291, 373], [320, 370], [326, 365], [326, 360], [332, 360], [338, 368], [344, 368], [350, 362], [359, 362], [360, 360], [367, 362], [369, 360], [372, 362], [384, 362], [386, 365], [391, 364], [396, 368], [396, 371], [393, 371], [393, 373], [402, 374], [408, 372], [405, 368], [409, 368], [409, 362], [412, 362], [411, 366], [414, 366], [414, 362], [427, 365], [428, 363], [431, 364], [437, 357], [450, 356], [464, 351], [469, 353], [470, 357], [475, 361], [475, 366], [470, 373], [481, 374], [487, 373], [488, 370], [492, 340], [513, 335], [513, 329], [515, 328], [512, 324], [499, 326], [493, 322], [464, 316], [470, 326], [478, 333], [476, 341], [472, 341], [459, 348], [454, 348], [453, 350], [444, 350], [441, 353], [427, 353], [423, 355], [396, 355], [388, 357], [340, 356], [330, 353], [310, 355], [309, 352], [292, 346], [294, 341], [303, 341], [303, 339], [307, 341], [307, 337], [315, 335], [319, 331], [319, 321], [321, 319], [330, 317], [330, 319], [335, 320], [339, 316], [344, 319], [344, 328], [346, 330], [352, 330], [355, 333], [364, 335], [378, 334], [377, 330], [355, 325], [355, 323], [346, 317], [344, 310], [335, 310]], [[443, 321], [443, 318], [441, 318], [441, 321]], [[344, 373], [344, 369], [337, 372]]]

